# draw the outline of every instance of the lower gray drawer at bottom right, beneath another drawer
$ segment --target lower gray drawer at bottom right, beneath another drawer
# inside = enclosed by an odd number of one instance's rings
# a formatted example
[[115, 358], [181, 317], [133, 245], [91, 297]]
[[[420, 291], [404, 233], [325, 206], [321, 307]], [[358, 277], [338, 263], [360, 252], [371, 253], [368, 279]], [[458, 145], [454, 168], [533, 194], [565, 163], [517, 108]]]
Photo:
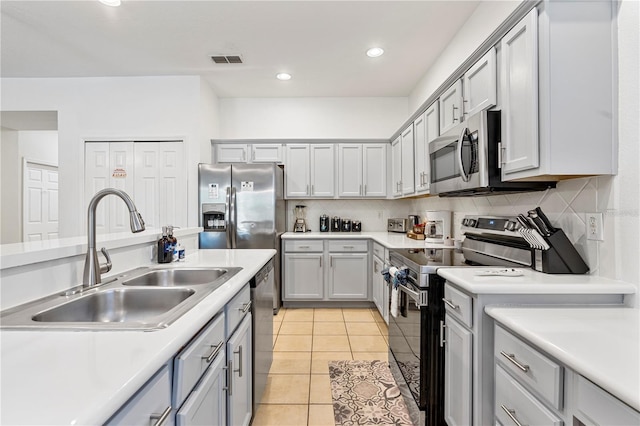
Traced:
[[495, 381], [495, 416], [503, 425], [562, 426], [563, 424], [562, 419], [545, 407], [498, 364], [496, 364]]

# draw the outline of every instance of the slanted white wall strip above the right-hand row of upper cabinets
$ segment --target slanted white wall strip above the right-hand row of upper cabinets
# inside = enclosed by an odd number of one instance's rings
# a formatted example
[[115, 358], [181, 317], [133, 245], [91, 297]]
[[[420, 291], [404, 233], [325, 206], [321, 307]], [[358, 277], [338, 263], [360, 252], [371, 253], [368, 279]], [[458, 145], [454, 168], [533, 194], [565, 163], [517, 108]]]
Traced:
[[[483, 1], [455, 35], [436, 62], [409, 95], [409, 113], [423, 102], [458, 68], [498, 26], [522, 3], [522, 0]], [[428, 40], [426, 40], [428, 42]], [[395, 129], [397, 130], [397, 129]]]

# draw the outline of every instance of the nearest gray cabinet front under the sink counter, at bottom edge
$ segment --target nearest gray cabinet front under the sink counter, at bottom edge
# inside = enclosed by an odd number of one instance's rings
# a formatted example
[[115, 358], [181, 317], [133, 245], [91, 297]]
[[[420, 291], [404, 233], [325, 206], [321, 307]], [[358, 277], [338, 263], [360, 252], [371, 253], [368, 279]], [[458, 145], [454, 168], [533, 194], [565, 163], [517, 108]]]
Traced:
[[171, 374], [165, 364], [106, 425], [158, 424], [172, 425]]

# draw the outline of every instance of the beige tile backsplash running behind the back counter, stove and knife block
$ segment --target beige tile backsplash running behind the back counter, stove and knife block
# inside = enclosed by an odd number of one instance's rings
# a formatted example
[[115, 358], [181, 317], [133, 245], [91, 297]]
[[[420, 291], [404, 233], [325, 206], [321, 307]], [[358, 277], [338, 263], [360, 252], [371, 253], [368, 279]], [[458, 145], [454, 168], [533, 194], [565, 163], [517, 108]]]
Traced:
[[[602, 275], [599, 264], [599, 241], [587, 240], [586, 213], [603, 212], [606, 218], [607, 177], [572, 179], [558, 182], [557, 188], [523, 194], [492, 195], [488, 197], [439, 198], [426, 197], [404, 200], [289, 200], [287, 223], [293, 224], [293, 208], [307, 206], [307, 225], [317, 231], [322, 214], [329, 217], [356, 219], [363, 231], [385, 231], [387, 218], [409, 214], [425, 216], [428, 210], [451, 210], [453, 232], [461, 238], [459, 223], [467, 214], [516, 216], [540, 206], [555, 227], [562, 228], [580, 255], [589, 265], [590, 273]], [[599, 186], [602, 188], [599, 189]], [[292, 227], [292, 225], [291, 225]], [[605, 225], [606, 228], [606, 225]], [[605, 239], [607, 235], [605, 233]], [[609, 236], [613, 238], [613, 236]]]

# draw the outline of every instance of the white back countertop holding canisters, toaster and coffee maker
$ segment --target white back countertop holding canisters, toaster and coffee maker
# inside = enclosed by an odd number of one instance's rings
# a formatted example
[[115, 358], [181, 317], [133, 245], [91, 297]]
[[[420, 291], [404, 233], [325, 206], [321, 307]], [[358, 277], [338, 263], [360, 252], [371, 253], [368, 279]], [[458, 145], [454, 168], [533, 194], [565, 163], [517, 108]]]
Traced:
[[348, 240], [367, 239], [382, 244], [386, 248], [444, 248], [453, 249], [453, 246], [444, 244], [427, 244], [424, 240], [413, 240], [407, 234], [398, 232], [285, 232], [283, 240]]

